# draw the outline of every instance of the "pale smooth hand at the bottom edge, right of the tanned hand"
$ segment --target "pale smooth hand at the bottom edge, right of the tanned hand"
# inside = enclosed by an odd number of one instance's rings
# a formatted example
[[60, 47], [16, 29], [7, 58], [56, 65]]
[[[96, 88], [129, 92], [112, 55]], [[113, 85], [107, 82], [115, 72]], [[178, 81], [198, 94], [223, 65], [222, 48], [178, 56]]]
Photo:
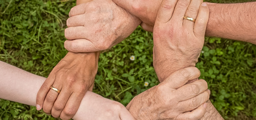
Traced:
[[73, 119], [79, 120], [134, 120], [130, 112], [117, 101], [103, 98], [88, 91]]

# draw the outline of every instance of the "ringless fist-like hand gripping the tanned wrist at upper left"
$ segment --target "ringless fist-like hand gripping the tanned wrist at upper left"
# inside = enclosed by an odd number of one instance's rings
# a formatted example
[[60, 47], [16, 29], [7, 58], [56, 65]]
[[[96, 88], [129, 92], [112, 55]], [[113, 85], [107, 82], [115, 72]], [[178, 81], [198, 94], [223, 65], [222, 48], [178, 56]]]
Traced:
[[111, 48], [128, 37], [140, 20], [112, 0], [94, 0], [70, 10], [65, 48], [71, 52], [96, 52]]

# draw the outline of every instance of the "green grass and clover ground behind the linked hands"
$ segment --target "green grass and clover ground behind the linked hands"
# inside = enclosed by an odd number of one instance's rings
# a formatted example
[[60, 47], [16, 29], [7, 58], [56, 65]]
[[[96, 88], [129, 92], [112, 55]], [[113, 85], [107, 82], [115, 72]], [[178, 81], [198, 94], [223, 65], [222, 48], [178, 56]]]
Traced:
[[[208, 1], [247, 2], [247, 1]], [[64, 29], [75, 1], [0, 1], [0, 60], [47, 77], [67, 51]], [[157, 85], [153, 38], [138, 27], [130, 37], [100, 55], [94, 92], [124, 105]], [[197, 67], [212, 91], [210, 100], [225, 119], [256, 119], [256, 46], [207, 37]], [[130, 56], [135, 56], [135, 61]], [[148, 82], [149, 86], [144, 86]], [[0, 99], [0, 119], [55, 119]]]

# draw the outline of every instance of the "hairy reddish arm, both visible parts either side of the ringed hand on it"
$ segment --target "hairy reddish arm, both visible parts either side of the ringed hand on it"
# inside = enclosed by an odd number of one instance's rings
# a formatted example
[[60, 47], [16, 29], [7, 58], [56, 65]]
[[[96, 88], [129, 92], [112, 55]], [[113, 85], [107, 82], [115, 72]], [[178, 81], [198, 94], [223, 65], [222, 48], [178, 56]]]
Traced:
[[[153, 31], [156, 15], [162, 0], [114, 0], [118, 5], [129, 11]], [[147, 3], [147, 4], [145, 4]], [[210, 37], [229, 38], [256, 44], [256, 2], [240, 4], [213, 4], [210, 8], [206, 35]]]

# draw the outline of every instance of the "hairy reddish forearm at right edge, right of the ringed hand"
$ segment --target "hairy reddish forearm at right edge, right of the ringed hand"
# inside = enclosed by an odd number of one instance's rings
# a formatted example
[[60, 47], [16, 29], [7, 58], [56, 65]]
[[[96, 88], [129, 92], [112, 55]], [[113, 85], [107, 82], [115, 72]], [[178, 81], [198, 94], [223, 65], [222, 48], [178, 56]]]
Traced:
[[207, 36], [256, 44], [256, 2], [208, 5], [210, 17]]

